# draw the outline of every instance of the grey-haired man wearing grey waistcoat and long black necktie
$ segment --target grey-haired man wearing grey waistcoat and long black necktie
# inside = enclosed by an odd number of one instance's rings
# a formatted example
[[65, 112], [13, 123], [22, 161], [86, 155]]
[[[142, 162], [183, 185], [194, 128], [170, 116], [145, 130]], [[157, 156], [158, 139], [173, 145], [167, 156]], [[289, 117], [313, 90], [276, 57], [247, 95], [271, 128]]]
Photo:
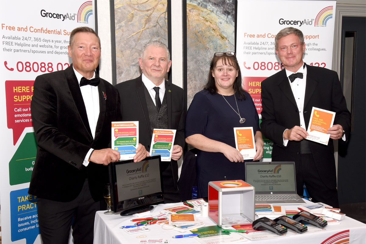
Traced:
[[139, 121], [139, 142], [150, 150], [153, 129], [176, 129], [172, 161], [162, 162], [165, 203], [180, 202], [178, 160], [185, 144], [186, 109], [182, 88], [164, 80], [171, 60], [167, 46], [160, 41], [147, 43], [139, 57], [142, 70], [138, 78], [116, 85], [122, 105], [123, 121]]

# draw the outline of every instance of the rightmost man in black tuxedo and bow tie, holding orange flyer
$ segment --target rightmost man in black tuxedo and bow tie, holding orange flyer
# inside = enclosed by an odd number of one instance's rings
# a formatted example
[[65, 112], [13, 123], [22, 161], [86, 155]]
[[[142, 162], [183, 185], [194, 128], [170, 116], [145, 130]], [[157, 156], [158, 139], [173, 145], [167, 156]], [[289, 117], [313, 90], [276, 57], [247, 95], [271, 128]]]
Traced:
[[[275, 143], [272, 160], [295, 162], [299, 195], [305, 183], [314, 202], [338, 207], [333, 140], [345, 143], [351, 127], [338, 75], [303, 63], [305, 43], [298, 29], [281, 30], [275, 48], [285, 70], [262, 82], [261, 113], [261, 131]], [[336, 112], [328, 146], [305, 140], [313, 107]]]

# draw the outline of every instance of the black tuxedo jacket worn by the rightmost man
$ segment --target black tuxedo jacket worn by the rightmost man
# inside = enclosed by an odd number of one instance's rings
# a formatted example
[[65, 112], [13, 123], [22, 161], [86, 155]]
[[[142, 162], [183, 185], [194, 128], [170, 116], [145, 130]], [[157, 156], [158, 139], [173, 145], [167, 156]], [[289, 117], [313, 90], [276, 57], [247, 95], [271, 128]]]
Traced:
[[[340, 124], [349, 137], [351, 114], [347, 110], [338, 75], [335, 71], [306, 65], [306, 89], [304, 99], [304, 120], [308, 128], [313, 107], [336, 112], [333, 124]], [[300, 116], [285, 70], [277, 72], [262, 82], [262, 133], [275, 144], [273, 161], [299, 161], [300, 142], [288, 141], [283, 146], [283, 132], [295, 125], [300, 126]], [[340, 142], [343, 141], [340, 139]], [[336, 169], [333, 140], [328, 146], [316, 142], [310, 143], [311, 153], [318, 172], [329, 188], [335, 188]]]

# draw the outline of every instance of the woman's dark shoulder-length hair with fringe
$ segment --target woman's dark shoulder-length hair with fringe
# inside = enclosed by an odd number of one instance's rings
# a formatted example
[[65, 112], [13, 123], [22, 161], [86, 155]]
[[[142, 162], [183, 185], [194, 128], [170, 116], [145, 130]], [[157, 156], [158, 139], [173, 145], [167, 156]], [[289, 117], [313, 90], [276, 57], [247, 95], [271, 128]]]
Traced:
[[231, 65], [238, 71], [238, 77], [236, 77], [236, 79], [234, 81], [233, 89], [234, 89], [234, 93], [237, 93], [239, 95], [239, 98], [238, 98], [239, 100], [242, 100], [242, 99], [245, 100], [246, 96], [245, 96], [244, 89], [242, 87], [242, 74], [240, 73], [238, 60], [236, 59], [235, 56], [223, 55], [223, 56], [219, 56], [219, 57], [214, 56], [212, 58], [211, 64], [210, 64], [210, 72], [208, 74], [208, 80], [207, 80], [205, 87], [203, 87], [203, 89], [208, 90], [211, 94], [217, 93], [215, 78], [212, 76], [212, 72], [213, 72], [214, 68], [216, 67], [216, 64], [219, 60], [222, 60], [223, 64], [225, 64], [225, 65]]

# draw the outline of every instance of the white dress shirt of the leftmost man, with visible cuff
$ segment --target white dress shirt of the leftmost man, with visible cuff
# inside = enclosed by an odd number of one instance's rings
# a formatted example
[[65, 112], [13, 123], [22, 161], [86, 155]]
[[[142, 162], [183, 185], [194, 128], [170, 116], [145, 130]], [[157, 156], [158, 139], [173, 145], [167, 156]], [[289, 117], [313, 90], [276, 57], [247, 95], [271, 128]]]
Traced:
[[[76, 79], [78, 79], [79, 84], [80, 84], [80, 80], [83, 76], [78, 71], [76, 71], [75, 68], [74, 68], [74, 72], [76, 75]], [[95, 78], [95, 73], [93, 74], [93, 77], [90, 79], [93, 79], [93, 78]], [[83, 96], [84, 105], [85, 105], [85, 109], [86, 109], [86, 115], [88, 116], [91, 136], [93, 136], [93, 138], [94, 138], [95, 131], [97, 128], [97, 122], [98, 122], [98, 118], [99, 118], [98, 86], [86, 85], [86, 86], [79, 86], [79, 87], [81, 90], [81, 95]], [[89, 164], [88, 159], [93, 150], [94, 149], [91, 148], [88, 151], [88, 153], [86, 154], [86, 156], [84, 158], [83, 165], [88, 166], [88, 164]]]

